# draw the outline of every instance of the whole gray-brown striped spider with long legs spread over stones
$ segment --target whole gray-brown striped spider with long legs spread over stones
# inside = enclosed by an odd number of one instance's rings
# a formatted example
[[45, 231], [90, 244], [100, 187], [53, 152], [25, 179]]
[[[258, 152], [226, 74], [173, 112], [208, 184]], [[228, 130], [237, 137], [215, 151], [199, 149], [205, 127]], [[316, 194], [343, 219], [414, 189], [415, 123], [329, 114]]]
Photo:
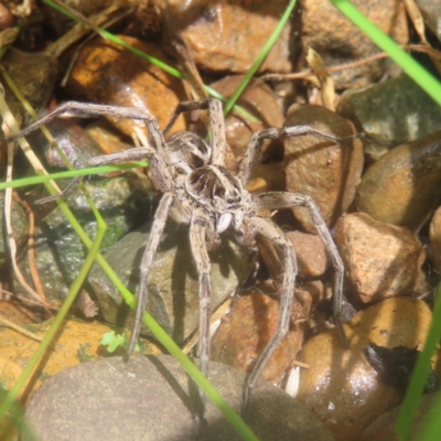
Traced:
[[[165, 141], [180, 114], [202, 109], [207, 109], [209, 114], [208, 143], [196, 133], [190, 131], [178, 132]], [[209, 358], [209, 300], [212, 290], [208, 250], [219, 245], [219, 235], [226, 229], [233, 229], [237, 240], [246, 245], [252, 244], [256, 235], [261, 235], [273, 241], [283, 252], [283, 281], [280, 289], [280, 315], [277, 332], [257, 358], [244, 387], [243, 411], [245, 412], [257, 379], [289, 330], [297, 275], [295, 251], [292, 243], [271, 219], [258, 215], [256, 211], [262, 208], [289, 208], [292, 206], [308, 207], [316, 230], [331, 257], [335, 269], [334, 315], [343, 344], [347, 347], [347, 340], [341, 320], [343, 262], [318, 205], [310, 196], [303, 194], [287, 192], [250, 194], [245, 190], [252, 168], [259, 160], [262, 140], [311, 133], [335, 143], [346, 140], [346, 138], [335, 138], [308, 126], [265, 129], [251, 137], [239, 172], [237, 175], [233, 175], [225, 169], [226, 139], [222, 103], [218, 99], [207, 98], [181, 103], [163, 131], [161, 131], [157, 119], [146, 110], [69, 101], [34, 122], [9, 141], [23, 137], [53, 118], [67, 112], [141, 120], [149, 131], [148, 146], [97, 157], [90, 160], [88, 164], [96, 166], [148, 158], [150, 160], [152, 182], [157, 190], [162, 193], [154, 215], [150, 238], [141, 260], [140, 284], [137, 292], [138, 303], [128, 349], [129, 355], [133, 352], [140, 333], [141, 318], [148, 294], [149, 273], [169, 216], [175, 222], [186, 224], [190, 227], [191, 249], [200, 282], [201, 337], [198, 342], [198, 363], [205, 376], [207, 375]]]

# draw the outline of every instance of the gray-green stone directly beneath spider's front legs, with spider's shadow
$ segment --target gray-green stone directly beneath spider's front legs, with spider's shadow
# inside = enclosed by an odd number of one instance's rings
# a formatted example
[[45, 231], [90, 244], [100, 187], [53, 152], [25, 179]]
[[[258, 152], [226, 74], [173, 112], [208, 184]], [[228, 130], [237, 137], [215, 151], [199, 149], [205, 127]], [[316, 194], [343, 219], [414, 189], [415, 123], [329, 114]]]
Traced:
[[[108, 252], [106, 260], [132, 292], [137, 292], [139, 267], [151, 224], [129, 233]], [[212, 310], [239, 286], [248, 273], [248, 249], [239, 246], [233, 235], [224, 235], [222, 246], [209, 252], [212, 265]], [[98, 298], [104, 318], [110, 323], [133, 324], [133, 312], [121, 294], [95, 263], [89, 282]], [[189, 227], [169, 222], [153, 259], [149, 278], [147, 310], [178, 343], [198, 326], [198, 280], [193, 261]], [[146, 327], [142, 332], [148, 332]]]

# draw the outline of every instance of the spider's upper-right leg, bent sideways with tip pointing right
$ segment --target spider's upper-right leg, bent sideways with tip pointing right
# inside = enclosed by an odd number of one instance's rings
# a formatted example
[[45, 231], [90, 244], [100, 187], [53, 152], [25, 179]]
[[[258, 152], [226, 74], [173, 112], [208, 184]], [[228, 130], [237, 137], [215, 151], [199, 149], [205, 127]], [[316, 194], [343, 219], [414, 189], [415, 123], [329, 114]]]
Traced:
[[354, 136], [337, 138], [332, 135], [327, 135], [323, 131], [315, 130], [309, 126], [294, 126], [294, 127], [282, 127], [281, 129], [265, 129], [252, 135], [247, 151], [240, 164], [239, 173], [237, 178], [239, 179], [241, 185], [245, 187], [251, 171], [254, 170], [256, 163], [260, 159], [261, 144], [265, 139], [277, 139], [282, 137], [298, 137], [302, 135], [315, 135], [318, 138], [331, 141], [334, 143], [340, 143], [343, 141], [348, 141], [349, 139], [358, 138], [361, 135], [356, 133]]

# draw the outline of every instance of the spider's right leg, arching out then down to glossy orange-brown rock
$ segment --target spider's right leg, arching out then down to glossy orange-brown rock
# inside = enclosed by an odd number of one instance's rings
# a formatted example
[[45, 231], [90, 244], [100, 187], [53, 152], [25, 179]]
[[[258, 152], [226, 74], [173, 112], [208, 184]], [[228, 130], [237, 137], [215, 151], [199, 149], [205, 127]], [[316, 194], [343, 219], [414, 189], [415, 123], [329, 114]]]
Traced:
[[319, 206], [315, 204], [311, 196], [299, 193], [284, 193], [284, 192], [268, 192], [258, 195], [251, 195], [251, 204], [254, 208], [289, 208], [292, 206], [304, 206], [309, 209], [311, 219], [315, 225], [319, 236], [326, 247], [326, 251], [331, 257], [335, 270], [334, 280], [334, 316], [335, 323], [342, 338], [343, 346], [347, 349], [349, 347], [346, 334], [342, 323], [342, 298], [343, 298], [343, 276], [344, 266], [338, 250], [332, 239], [331, 233], [326, 227]]

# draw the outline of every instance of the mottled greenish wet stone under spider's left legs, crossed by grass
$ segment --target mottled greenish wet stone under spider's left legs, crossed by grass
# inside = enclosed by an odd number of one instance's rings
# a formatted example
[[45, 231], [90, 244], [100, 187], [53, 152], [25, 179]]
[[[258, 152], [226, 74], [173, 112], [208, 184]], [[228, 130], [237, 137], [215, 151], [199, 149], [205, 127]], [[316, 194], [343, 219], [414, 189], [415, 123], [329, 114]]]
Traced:
[[[149, 218], [152, 187], [139, 187], [129, 172], [85, 185], [108, 227], [100, 252]], [[94, 238], [97, 220], [79, 189], [67, 196], [67, 203], [88, 237]], [[47, 300], [63, 300], [84, 263], [87, 248], [58, 208], [52, 211], [35, 228], [34, 251], [35, 266]], [[32, 284], [26, 256], [19, 266], [28, 283]], [[14, 281], [14, 289], [19, 294], [29, 297], [18, 281]]]

